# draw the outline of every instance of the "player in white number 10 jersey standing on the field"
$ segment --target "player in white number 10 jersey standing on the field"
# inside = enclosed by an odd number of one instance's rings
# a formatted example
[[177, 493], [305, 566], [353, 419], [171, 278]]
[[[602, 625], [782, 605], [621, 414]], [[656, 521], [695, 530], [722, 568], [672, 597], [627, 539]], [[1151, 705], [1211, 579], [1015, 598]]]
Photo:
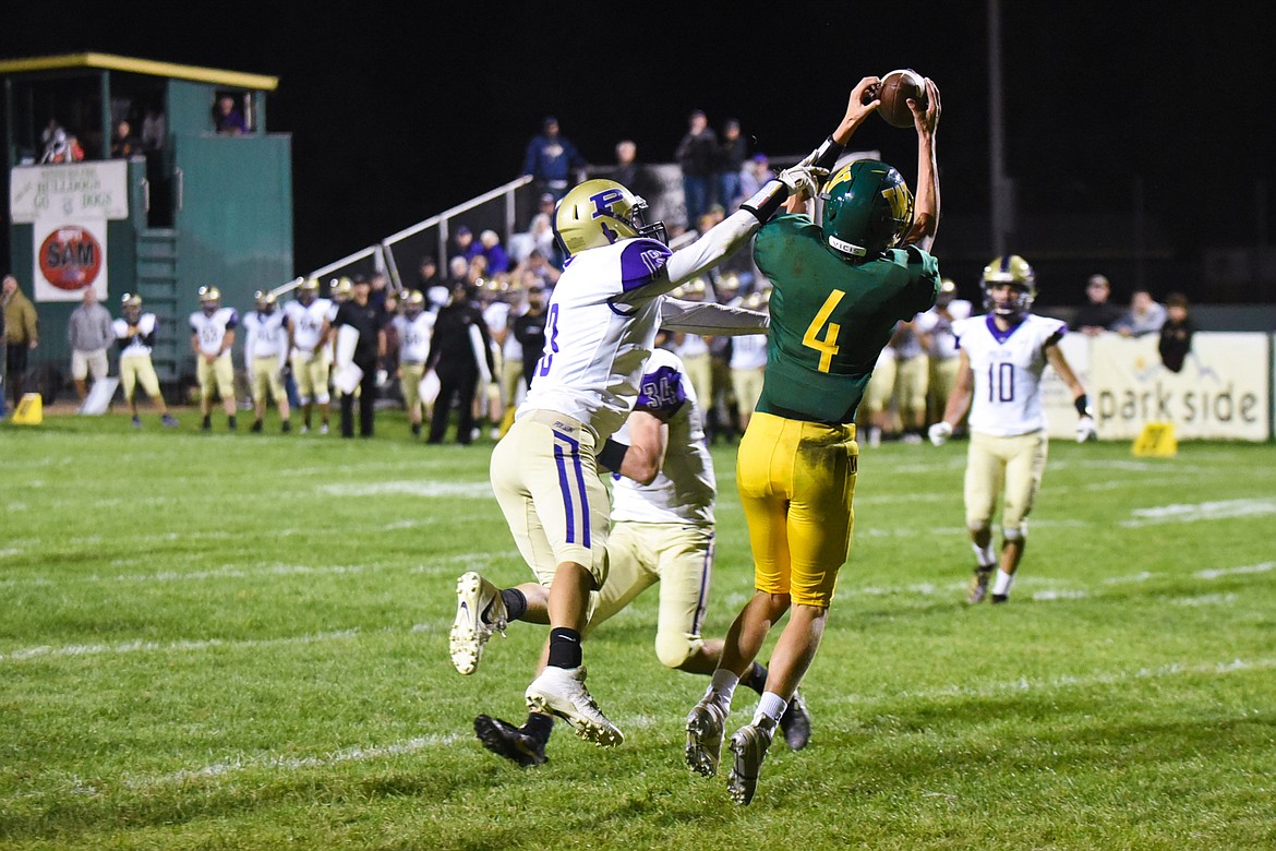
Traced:
[[[1072, 390], [1077, 407], [1077, 440], [1095, 438], [1090, 399], [1059, 348], [1068, 327], [1032, 313], [1036, 274], [1017, 254], [984, 267], [986, 315], [953, 323], [961, 347], [957, 383], [944, 418], [930, 426], [930, 441], [942, 445], [970, 411], [966, 461], [966, 528], [975, 550], [975, 575], [966, 602], [981, 602], [993, 568], [993, 602], [1009, 598], [1011, 583], [1027, 544], [1027, 518], [1041, 487], [1049, 445], [1041, 407], [1041, 373], [1054, 367]], [[999, 494], [999, 491], [1003, 491]], [[1002, 551], [993, 551], [993, 509], [1002, 505]]]

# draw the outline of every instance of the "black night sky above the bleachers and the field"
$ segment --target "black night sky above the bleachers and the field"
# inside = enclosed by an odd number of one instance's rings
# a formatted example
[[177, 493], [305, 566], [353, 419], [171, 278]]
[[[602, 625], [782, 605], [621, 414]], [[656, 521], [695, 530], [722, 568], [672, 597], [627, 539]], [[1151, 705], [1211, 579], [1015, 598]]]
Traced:
[[[983, 1], [787, 3], [775, 13], [688, 3], [156, 5], [6, 4], [0, 55], [93, 50], [279, 77], [269, 126], [293, 137], [299, 269], [513, 179], [547, 114], [598, 165], [624, 137], [643, 159], [670, 161], [694, 107], [716, 129], [739, 117], [755, 149], [800, 154], [832, 129], [860, 77], [898, 66], [943, 94], [946, 214], [989, 208]], [[1007, 166], [1025, 209], [1125, 209], [1138, 175], [1171, 240], [1259, 239], [1254, 186], [1267, 181], [1270, 203], [1276, 151], [1265, 6], [1212, 4], [1207, 18], [1188, 3], [1003, 6]], [[911, 131], [870, 121], [855, 147], [880, 149], [912, 182]], [[939, 239], [942, 256], [943, 230]]]

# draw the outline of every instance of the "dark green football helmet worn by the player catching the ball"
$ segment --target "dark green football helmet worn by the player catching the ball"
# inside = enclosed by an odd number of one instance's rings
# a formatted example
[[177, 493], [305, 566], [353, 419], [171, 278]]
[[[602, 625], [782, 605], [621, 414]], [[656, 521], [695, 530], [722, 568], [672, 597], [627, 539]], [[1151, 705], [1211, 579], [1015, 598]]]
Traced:
[[835, 251], [866, 258], [894, 248], [912, 226], [912, 193], [900, 172], [877, 159], [838, 168], [819, 194], [824, 241]]

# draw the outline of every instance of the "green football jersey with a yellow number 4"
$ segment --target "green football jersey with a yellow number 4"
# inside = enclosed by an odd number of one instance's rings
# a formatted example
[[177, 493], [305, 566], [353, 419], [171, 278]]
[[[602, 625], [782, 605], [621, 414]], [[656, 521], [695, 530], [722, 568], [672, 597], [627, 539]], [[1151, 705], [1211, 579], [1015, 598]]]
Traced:
[[896, 323], [935, 304], [938, 260], [912, 245], [851, 260], [828, 248], [806, 216], [767, 222], [753, 258], [775, 287], [757, 410], [790, 420], [854, 422]]

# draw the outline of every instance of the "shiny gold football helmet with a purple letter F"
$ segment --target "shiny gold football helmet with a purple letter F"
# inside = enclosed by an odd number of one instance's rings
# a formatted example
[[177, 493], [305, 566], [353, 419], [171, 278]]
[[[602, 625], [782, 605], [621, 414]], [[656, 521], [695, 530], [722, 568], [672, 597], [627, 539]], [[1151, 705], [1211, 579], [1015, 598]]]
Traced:
[[614, 180], [587, 180], [554, 209], [554, 239], [564, 256], [648, 236], [669, 242], [664, 222], [647, 223], [647, 202]]

